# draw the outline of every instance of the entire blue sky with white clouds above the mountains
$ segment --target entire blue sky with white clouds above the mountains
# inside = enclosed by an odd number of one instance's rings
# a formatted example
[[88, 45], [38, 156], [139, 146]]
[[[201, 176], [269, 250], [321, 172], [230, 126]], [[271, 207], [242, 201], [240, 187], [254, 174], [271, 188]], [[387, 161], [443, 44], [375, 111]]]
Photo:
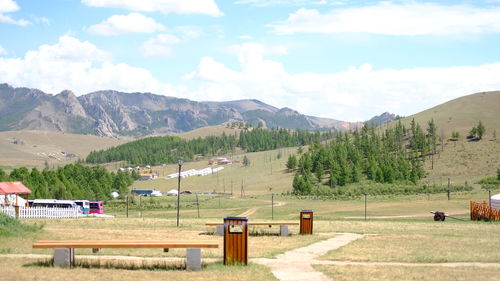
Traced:
[[500, 0], [0, 0], [0, 83], [408, 116], [500, 90]]

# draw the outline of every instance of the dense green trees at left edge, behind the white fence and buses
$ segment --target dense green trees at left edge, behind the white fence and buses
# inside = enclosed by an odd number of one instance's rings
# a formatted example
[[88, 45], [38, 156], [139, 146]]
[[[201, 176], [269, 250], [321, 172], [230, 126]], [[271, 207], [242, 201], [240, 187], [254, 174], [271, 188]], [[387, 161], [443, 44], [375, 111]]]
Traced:
[[135, 171], [110, 173], [103, 167], [68, 164], [57, 170], [26, 167], [12, 170], [10, 174], [0, 169], [0, 181], [20, 181], [32, 193], [30, 198], [81, 199], [103, 201], [111, 192], [128, 193], [128, 187], [139, 176]]

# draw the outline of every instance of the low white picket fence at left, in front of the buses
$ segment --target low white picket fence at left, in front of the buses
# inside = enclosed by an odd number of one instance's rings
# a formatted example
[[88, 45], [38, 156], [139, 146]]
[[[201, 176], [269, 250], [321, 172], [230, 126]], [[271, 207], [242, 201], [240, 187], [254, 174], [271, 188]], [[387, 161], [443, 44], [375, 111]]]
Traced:
[[[5, 213], [11, 217], [16, 216], [14, 206], [0, 206], [0, 212]], [[77, 208], [48, 208], [48, 207], [19, 207], [19, 217], [32, 219], [32, 218], [48, 218], [48, 219], [62, 219], [62, 218], [80, 218], [83, 217], [80, 207]]]

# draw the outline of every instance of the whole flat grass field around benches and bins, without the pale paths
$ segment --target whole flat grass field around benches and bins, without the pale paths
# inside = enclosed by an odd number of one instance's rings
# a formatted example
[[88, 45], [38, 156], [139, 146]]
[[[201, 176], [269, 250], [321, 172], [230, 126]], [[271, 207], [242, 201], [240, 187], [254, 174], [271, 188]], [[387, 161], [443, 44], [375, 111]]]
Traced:
[[[334, 237], [335, 232], [366, 234], [345, 247], [330, 251], [322, 260], [369, 261], [369, 262], [494, 262], [500, 263], [500, 253], [492, 251], [500, 240], [500, 223], [471, 222], [468, 218], [468, 202], [471, 199], [484, 199], [486, 192], [474, 190], [460, 194], [452, 194], [447, 200], [445, 194], [413, 196], [381, 196], [368, 197], [368, 220], [364, 221], [364, 200], [321, 200], [312, 198], [295, 198], [276, 196], [279, 202], [274, 207], [275, 220], [297, 221], [301, 209], [314, 209], [315, 221], [312, 236], [297, 235], [298, 227], [291, 226], [289, 237], [277, 236], [278, 228], [267, 226], [250, 229], [249, 257], [272, 258], [287, 250], [303, 247], [311, 243]], [[46, 267], [36, 263], [34, 259], [6, 258], [5, 255], [18, 254], [51, 254], [51, 250], [31, 249], [31, 243], [41, 239], [89, 239], [89, 233], [99, 239], [181, 239], [218, 241], [222, 247], [222, 237], [212, 234], [213, 228], [204, 225], [208, 221], [220, 221], [223, 216], [237, 215], [249, 209], [251, 221], [266, 221], [271, 213], [269, 194], [248, 196], [244, 199], [225, 196], [202, 195], [200, 204], [201, 218], [197, 218], [197, 208], [193, 204], [194, 195], [181, 197], [180, 228], [175, 226], [175, 209], [158, 207], [174, 205], [176, 198], [153, 198], [158, 202], [149, 203], [144, 200], [142, 212], [139, 205], [132, 205], [129, 218], [125, 209], [114, 203], [110, 213], [116, 218], [99, 219], [54, 219], [23, 220], [23, 223], [45, 224], [42, 231], [29, 233], [22, 237], [0, 237], [0, 266], [4, 269], [2, 276], [16, 280], [33, 280], [33, 276], [54, 275], [55, 280], [62, 280], [75, 274], [93, 275], [90, 280], [134, 280], [135, 278], [161, 279], [168, 274], [169, 280], [275, 280], [269, 269], [253, 263], [249, 267], [224, 267], [220, 262], [209, 264], [202, 272], [185, 272], [174, 265], [170, 268], [154, 270], [124, 269], [119, 258], [98, 268], [78, 267], [64, 270]], [[218, 199], [221, 199], [219, 207]], [[135, 201], [138, 203], [138, 201]], [[151, 204], [151, 205], [147, 205]], [[156, 206], [156, 207], [151, 207]], [[441, 210], [465, 221], [447, 219], [445, 222], [434, 222], [431, 210]], [[141, 217], [142, 215], [142, 217]], [[91, 255], [89, 249], [78, 249], [77, 255]], [[184, 257], [185, 250], [172, 249], [164, 253], [161, 249], [103, 249], [95, 256], [137, 256], [137, 257]], [[203, 257], [222, 258], [222, 248], [204, 249]], [[78, 257], [77, 257], [78, 259]], [[83, 261], [85, 259], [83, 258]], [[139, 264], [140, 267], [140, 264]], [[441, 274], [440, 280], [467, 280], [476, 276], [476, 268], [463, 267], [458, 271], [451, 268], [432, 267], [411, 268], [398, 266], [315, 266], [332, 276], [335, 280], [433, 280], [433, 274]], [[125, 267], [127, 268], [127, 267]], [[425, 270], [424, 270], [425, 269]], [[495, 280], [497, 269], [481, 269], [481, 280]], [[457, 275], [457, 272], [460, 274]], [[233, 277], [229, 277], [233, 276]], [[403, 277], [404, 278], [403, 278]], [[457, 277], [458, 276], [458, 277]], [[35, 280], [45, 280], [44, 277]], [[342, 279], [344, 278], [344, 279]], [[407, 278], [407, 279], [405, 279]], [[413, 278], [413, 279], [412, 279]], [[52, 279], [52, 280], [54, 280]], [[11, 278], [7, 280], [12, 280]]]

